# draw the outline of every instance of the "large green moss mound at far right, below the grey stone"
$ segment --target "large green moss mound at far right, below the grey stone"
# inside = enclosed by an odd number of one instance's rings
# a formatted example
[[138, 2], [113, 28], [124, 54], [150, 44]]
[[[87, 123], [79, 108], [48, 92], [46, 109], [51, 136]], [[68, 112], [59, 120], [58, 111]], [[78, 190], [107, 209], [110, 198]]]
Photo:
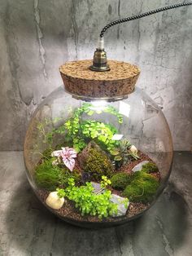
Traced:
[[133, 176], [133, 181], [124, 189], [123, 195], [128, 197], [129, 201], [151, 202], [159, 187], [158, 180], [143, 171], [138, 171]]

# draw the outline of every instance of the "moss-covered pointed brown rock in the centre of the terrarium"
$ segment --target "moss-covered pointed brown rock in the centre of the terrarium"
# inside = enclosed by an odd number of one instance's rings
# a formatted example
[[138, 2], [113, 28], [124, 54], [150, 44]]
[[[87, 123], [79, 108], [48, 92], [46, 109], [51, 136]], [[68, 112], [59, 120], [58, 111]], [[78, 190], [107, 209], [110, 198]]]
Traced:
[[113, 166], [107, 155], [95, 148], [89, 150], [89, 156], [85, 162], [85, 172], [95, 180], [101, 180], [102, 176], [111, 177]]

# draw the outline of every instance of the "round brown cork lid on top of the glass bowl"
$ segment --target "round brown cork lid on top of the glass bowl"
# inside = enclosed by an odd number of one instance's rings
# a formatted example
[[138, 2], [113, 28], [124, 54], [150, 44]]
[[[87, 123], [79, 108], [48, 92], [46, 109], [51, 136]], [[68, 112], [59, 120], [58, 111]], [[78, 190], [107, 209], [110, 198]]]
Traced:
[[94, 72], [89, 70], [92, 60], [78, 60], [60, 66], [59, 71], [65, 89], [72, 95], [113, 98], [129, 95], [135, 87], [140, 69], [117, 60], [108, 60], [111, 70]]

